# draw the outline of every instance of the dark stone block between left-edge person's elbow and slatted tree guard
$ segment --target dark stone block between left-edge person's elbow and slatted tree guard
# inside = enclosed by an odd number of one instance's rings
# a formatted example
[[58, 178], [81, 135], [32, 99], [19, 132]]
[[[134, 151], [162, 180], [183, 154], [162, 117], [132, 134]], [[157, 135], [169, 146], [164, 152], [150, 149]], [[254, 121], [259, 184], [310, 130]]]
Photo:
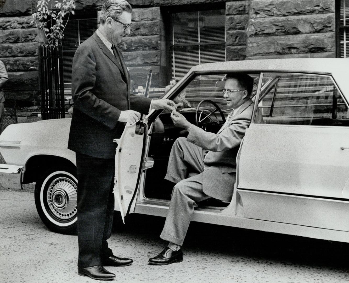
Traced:
[[38, 71], [8, 72], [7, 89], [37, 90], [38, 84]]

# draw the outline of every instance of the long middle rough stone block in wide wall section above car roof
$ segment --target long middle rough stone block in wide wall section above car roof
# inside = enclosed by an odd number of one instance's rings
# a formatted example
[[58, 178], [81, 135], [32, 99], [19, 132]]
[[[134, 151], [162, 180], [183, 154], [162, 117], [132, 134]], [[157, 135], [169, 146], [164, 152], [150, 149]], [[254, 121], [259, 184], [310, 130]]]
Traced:
[[313, 34], [331, 31], [335, 31], [334, 14], [251, 19], [246, 29], [248, 37]]

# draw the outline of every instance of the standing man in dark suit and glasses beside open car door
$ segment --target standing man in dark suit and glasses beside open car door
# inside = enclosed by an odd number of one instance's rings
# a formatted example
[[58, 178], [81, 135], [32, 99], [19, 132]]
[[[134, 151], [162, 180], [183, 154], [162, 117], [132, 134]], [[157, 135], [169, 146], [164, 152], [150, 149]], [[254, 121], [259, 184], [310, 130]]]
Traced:
[[[112, 280], [103, 266], [126, 266], [131, 259], [113, 255], [107, 239], [114, 212], [114, 157], [125, 123], [134, 123], [150, 107], [174, 110], [174, 103], [130, 95], [130, 78], [120, 50], [130, 34], [132, 8], [125, 0], [107, 0], [101, 25], [77, 48], [73, 59], [74, 111], [68, 148], [76, 153], [78, 180], [78, 274]], [[132, 110], [131, 110], [132, 109]]]

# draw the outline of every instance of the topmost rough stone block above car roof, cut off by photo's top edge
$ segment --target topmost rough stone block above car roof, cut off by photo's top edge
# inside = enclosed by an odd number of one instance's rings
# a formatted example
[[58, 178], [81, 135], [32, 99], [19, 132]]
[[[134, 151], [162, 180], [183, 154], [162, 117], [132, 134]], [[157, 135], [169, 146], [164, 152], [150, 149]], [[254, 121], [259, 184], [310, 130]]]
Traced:
[[335, 0], [255, 0], [250, 3], [251, 19], [334, 12]]

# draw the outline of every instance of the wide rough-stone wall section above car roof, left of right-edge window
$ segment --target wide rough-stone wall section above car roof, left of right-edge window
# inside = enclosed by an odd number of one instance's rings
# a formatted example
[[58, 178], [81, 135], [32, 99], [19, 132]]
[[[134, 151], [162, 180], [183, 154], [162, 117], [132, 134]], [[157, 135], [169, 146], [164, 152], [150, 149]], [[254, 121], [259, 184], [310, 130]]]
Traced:
[[335, 0], [251, 0], [247, 59], [335, 57]]

